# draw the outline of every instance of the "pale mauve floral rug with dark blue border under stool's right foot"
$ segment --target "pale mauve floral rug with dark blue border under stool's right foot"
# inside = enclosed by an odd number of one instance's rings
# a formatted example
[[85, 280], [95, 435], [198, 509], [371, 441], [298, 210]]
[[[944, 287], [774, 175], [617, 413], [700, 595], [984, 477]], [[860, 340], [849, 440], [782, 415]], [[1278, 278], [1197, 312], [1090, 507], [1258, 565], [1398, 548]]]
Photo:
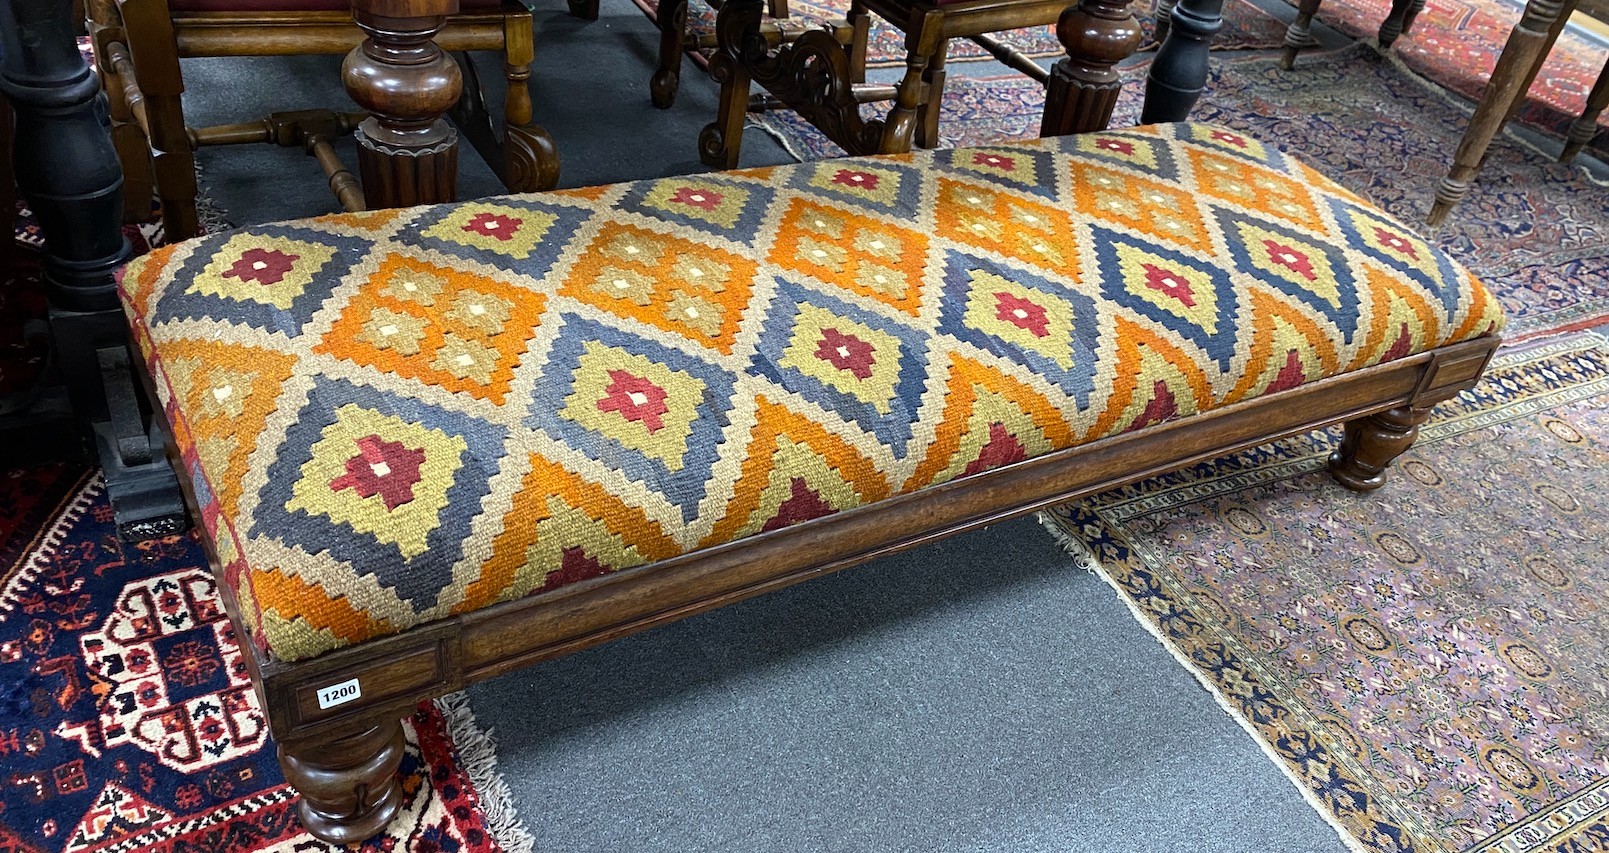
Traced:
[[1609, 850], [1609, 340], [1500, 354], [1379, 492], [1334, 441], [1041, 518], [1355, 850]]

